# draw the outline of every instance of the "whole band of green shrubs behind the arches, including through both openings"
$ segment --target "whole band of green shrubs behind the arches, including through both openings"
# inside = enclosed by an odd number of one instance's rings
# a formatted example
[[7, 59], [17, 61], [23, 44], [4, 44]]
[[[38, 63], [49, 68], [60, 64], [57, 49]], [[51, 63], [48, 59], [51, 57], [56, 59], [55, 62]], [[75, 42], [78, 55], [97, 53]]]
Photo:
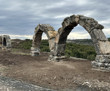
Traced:
[[[15, 43], [16, 44], [16, 43]], [[23, 50], [30, 50], [32, 46], [32, 40], [26, 39], [19, 42], [17, 45], [14, 46], [16, 49], [23, 49]], [[48, 40], [42, 40], [40, 49], [42, 52], [49, 52], [49, 43]], [[82, 45], [82, 44], [75, 44], [75, 43], [67, 43], [65, 55], [67, 57], [78, 57], [78, 58], [85, 58], [89, 60], [94, 60], [96, 56], [96, 52], [93, 46], [89, 45]]]

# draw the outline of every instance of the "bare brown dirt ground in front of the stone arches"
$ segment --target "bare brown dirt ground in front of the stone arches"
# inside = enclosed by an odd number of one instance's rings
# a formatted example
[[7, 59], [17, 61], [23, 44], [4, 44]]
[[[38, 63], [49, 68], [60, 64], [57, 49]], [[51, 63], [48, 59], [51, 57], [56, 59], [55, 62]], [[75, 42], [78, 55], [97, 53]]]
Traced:
[[49, 62], [47, 59], [47, 53], [32, 57], [0, 51], [0, 75], [56, 90], [78, 84], [110, 86], [110, 72], [92, 69], [90, 61]]

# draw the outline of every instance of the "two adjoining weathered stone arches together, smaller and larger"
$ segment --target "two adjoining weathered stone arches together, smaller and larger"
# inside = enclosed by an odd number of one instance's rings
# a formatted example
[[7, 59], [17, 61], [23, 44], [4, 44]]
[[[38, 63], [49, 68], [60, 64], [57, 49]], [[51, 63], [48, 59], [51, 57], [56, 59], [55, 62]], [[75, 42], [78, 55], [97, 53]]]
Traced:
[[[92, 62], [93, 67], [110, 68], [110, 42], [102, 32], [104, 28], [96, 20], [83, 15], [72, 15], [62, 22], [58, 33], [49, 25], [38, 25], [33, 37], [32, 55], [39, 54], [39, 46], [42, 33], [45, 32], [49, 39], [51, 61], [60, 61], [65, 58], [65, 46], [69, 33], [77, 25], [84, 27], [90, 34], [97, 56]], [[51, 37], [52, 35], [52, 37]]]

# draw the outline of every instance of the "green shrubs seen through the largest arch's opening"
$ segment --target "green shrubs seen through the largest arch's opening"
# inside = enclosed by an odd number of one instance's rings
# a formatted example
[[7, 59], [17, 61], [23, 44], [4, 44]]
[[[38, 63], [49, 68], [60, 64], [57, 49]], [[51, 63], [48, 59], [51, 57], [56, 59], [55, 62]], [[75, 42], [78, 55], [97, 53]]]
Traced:
[[96, 56], [96, 52], [93, 46], [74, 43], [66, 44], [65, 54], [66, 56], [84, 58], [89, 60], [94, 60]]

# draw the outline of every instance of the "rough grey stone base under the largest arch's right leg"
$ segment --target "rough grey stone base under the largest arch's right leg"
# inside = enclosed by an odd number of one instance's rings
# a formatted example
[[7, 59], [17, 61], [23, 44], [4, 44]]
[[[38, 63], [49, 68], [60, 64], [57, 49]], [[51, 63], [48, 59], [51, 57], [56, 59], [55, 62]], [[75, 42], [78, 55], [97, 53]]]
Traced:
[[95, 61], [92, 61], [92, 66], [110, 70], [110, 55], [97, 55]]

